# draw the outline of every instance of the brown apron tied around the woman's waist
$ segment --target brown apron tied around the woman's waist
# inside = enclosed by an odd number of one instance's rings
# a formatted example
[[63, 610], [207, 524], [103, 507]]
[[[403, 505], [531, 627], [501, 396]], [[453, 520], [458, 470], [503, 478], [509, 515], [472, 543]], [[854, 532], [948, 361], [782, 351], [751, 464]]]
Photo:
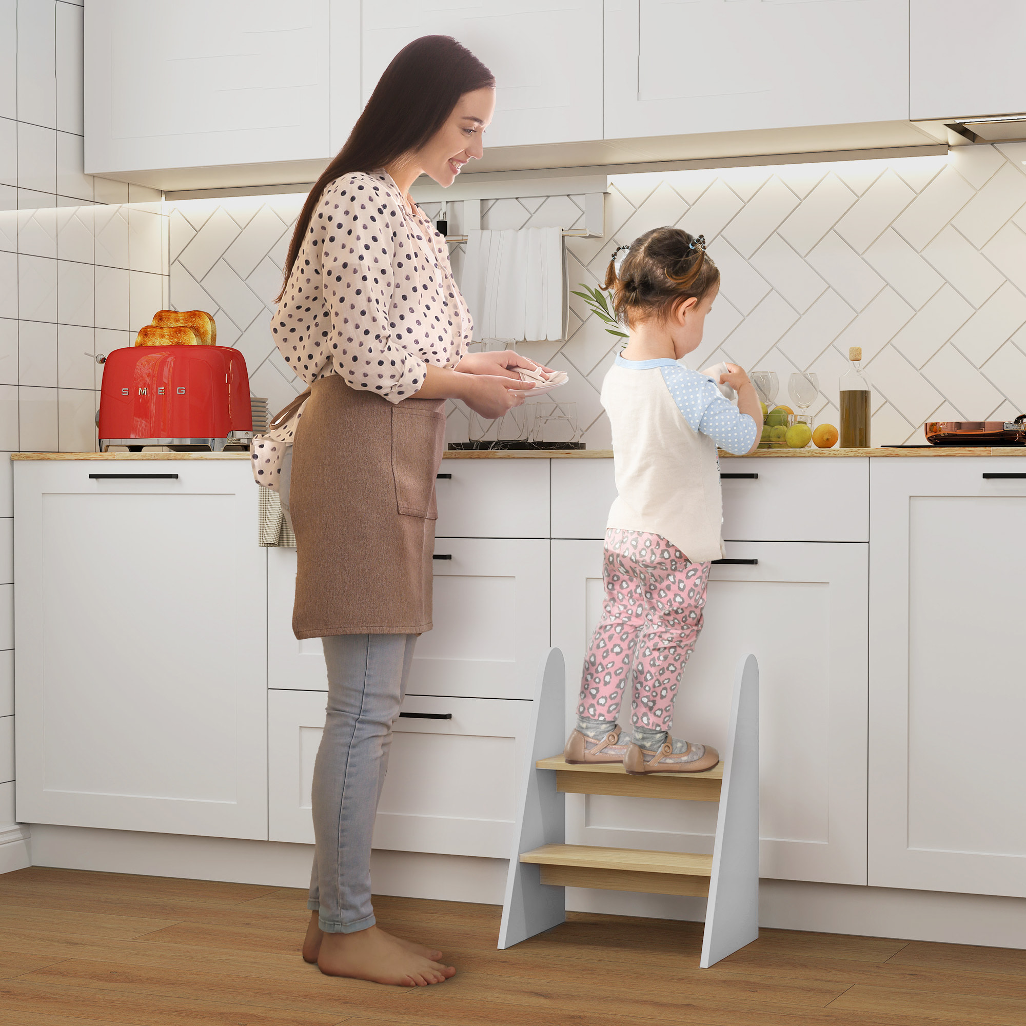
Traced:
[[431, 630], [444, 405], [314, 382], [289, 485], [298, 638]]

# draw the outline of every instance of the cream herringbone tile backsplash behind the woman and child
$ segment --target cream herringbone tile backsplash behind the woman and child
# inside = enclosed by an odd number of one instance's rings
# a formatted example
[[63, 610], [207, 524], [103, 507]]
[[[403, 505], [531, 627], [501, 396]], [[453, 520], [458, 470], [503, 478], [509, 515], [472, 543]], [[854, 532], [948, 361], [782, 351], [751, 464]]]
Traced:
[[[921, 437], [930, 419], [1026, 411], [1026, 145], [948, 157], [615, 175], [603, 239], [567, 239], [570, 287], [598, 284], [615, 245], [660, 225], [701, 232], [722, 272], [695, 367], [727, 359], [819, 373], [814, 411], [837, 420], [837, 378], [862, 346], [874, 387], [873, 441]], [[284, 405], [302, 388], [268, 320], [301, 196], [185, 201], [170, 215], [170, 295], [218, 317], [245, 354], [254, 392]], [[449, 231], [460, 226], [449, 205]], [[432, 215], [437, 204], [426, 204]], [[482, 203], [484, 228], [580, 227], [583, 196]], [[453, 249], [459, 279], [462, 247]], [[599, 403], [616, 340], [576, 297], [567, 338], [519, 351], [566, 370], [552, 398], [577, 404], [589, 447], [606, 447]], [[449, 404], [449, 438], [467, 418]]]

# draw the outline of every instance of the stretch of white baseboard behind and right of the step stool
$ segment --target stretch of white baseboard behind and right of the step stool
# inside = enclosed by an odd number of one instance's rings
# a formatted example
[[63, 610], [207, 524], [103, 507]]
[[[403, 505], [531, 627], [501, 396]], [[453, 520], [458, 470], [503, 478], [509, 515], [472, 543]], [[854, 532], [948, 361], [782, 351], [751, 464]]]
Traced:
[[[704, 898], [566, 889], [577, 912], [705, 921]], [[894, 937], [1026, 948], [1026, 898], [759, 880], [759, 925], [817, 934]]]

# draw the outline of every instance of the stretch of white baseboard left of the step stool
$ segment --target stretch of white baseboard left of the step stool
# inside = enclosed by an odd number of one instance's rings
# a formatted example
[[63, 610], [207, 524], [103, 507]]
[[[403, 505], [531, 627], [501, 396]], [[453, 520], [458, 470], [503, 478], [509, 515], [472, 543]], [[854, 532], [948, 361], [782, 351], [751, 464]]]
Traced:
[[[313, 853], [312, 844], [34, 824], [31, 864], [308, 887]], [[505, 859], [376, 851], [370, 875], [374, 894], [501, 905], [507, 865]]]

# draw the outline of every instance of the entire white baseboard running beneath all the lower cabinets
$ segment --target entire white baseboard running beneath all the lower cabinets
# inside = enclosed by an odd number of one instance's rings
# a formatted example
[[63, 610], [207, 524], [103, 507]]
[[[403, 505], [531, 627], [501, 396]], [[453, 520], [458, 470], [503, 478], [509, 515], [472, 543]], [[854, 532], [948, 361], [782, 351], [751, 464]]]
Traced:
[[[24, 861], [6, 865], [7, 850], [18, 844], [24, 849], [11, 854]], [[0, 872], [30, 865], [28, 845], [27, 840], [0, 844]], [[34, 866], [306, 887], [313, 846], [35, 824], [31, 854]], [[505, 859], [412, 852], [376, 851], [370, 860], [376, 894], [484, 905], [502, 904], [506, 867]], [[653, 919], [705, 919], [704, 898], [567, 887], [566, 907]], [[763, 879], [759, 925], [1026, 948], [1026, 898]]]

